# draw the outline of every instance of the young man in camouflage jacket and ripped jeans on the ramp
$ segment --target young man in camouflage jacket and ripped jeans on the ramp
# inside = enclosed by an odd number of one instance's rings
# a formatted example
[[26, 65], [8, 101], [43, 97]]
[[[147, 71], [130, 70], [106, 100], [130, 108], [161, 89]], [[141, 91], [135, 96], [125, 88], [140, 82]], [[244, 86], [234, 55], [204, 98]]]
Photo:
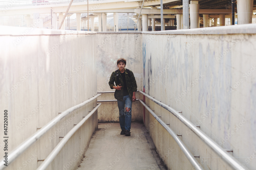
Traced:
[[130, 136], [132, 101], [136, 101], [137, 84], [133, 72], [125, 69], [126, 60], [124, 58], [117, 60], [117, 66], [119, 69], [111, 74], [109, 86], [111, 89], [115, 89], [114, 96], [119, 108], [119, 122], [122, 129], [120, 134]]

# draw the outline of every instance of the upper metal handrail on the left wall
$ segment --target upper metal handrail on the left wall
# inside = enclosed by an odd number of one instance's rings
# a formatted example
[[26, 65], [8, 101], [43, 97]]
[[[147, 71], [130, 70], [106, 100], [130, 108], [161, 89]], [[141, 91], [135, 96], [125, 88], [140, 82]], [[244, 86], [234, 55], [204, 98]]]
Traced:
[[[87, 103], [93, 101], [97, 97], [99, 97], [101, 94], [98, 94], [91, 99], [88, 99], [80, 104], [77, 104], [76, 106], [73, 106], [58, 116], [56, 116], [54, 119], [52, 119], [49, 123], [47, 123], [44, 127], [42, 127], [40, 130], [38, 130], [36, 133], [34, 133], [31, 137], [29, 137], [27, 140], [22, 142], [19, 146], [17, 146], [12, 153], [8, 156], [8, 164], [12, 163], [20, 154], [22, 154], [25, 150], [27, 150], [33, 143], [35, 143], [40, 137], [42, 137], [48, 130], [50, 130], [54, 125], [56, 125], [61, 119], [63, 119], [66, 115], [69, 113], [83, 107]], [[4, 160], [1, 160], [3, 162]], [[4, 166], [4, 164], [0, 165], [0, 170], [5, 169], [7, 166]]]

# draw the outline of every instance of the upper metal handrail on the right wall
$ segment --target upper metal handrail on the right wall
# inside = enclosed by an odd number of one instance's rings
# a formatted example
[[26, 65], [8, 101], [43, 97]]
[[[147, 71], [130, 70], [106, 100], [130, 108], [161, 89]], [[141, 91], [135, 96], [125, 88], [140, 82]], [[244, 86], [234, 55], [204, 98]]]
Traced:
[[226, 150], [221, 148], [215, 141], [209, 138], [204, 132], [198, 129], [193, 123], [191, 123], [188, 119], [186, 119], [182, 114], [167, 106], [166, 104], [154, 99], [153, 97], [145, 94], [141, 90], [138, 90], [141, 94], [146, 96], [148, 99], [152, 100], [159, 106], [165, 108], [169, 112], [171, 112], [174, 116], [176, 116], [182, 123], [184, 123], [188, 128], [190, 128], [206, 145], [208, 145], [220, 158], [225, 161], [230, 167], [233, 169], [245, 170], [240, 162], [230, 157]]

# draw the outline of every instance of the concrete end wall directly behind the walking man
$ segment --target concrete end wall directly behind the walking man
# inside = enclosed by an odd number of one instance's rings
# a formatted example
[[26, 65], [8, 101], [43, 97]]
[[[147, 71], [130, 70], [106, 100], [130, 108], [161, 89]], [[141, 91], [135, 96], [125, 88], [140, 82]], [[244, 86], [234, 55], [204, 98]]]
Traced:
[[[142, 34], [141, 33], [97, 33], [94, 46], [97, 65], [97, 91], [115, 91], [110, 89], [111, 73], [118, 69], [116, 61], [126, 59], [126, 67], [134, 73], [137, 89], [142, 90]], [[142, 99], [139, 92], [136, 98]], [[114, 93], [102, 94], [98, 100], [116, 100]], [[117, 102], [102, 102], [98, 109], [99, 122], [119, 121]], [[142, 121], [142, 105], [132, 103], [132, 121]], [[132, 129], [131, 129], [132, 130]]]

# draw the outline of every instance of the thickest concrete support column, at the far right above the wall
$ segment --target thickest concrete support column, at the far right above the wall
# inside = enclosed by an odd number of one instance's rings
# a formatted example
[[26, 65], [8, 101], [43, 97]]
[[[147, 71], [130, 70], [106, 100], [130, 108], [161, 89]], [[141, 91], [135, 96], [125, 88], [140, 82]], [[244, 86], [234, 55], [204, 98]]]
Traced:
[[237, 0], [238, 24], [252, 23], [253, 0]]

